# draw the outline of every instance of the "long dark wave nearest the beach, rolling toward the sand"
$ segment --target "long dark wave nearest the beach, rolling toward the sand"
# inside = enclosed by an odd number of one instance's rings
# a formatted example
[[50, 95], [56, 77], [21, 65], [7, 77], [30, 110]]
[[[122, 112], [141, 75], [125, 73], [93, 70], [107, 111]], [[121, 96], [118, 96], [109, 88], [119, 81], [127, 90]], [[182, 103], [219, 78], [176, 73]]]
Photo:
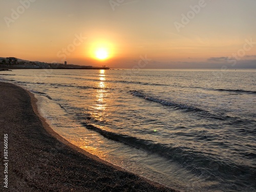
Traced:
[[[225, 162], [219, 159], [218, 156], [203, 154], [200, 151], [195, 151], [187, 147], [172, 147], [170, 145], [161, 144], [152, 140], [145, 140], [102, 130], [97, 126], [88, 124], [86, 122], [81, 124], [86, 127], [86, 129], [93, 130], [105, 138], [121, 142], [139, 150], [145, 150], [150, 153], [158, 154], [169, 160], [174, 160], [180, 163], [182, 166], [185, 166], [185, 168], [194, 174], [203, 175], [208, 172], [206, 175], [208, 176], [209, 180], [216, 179], [216, 177], [218, 177], [220, 174], [225, 176], [226, 173], [228, 173], [228, 177], [230, 176], [233, 178], [241, 176], [245, 173], [249, 173], [248, 178], [253, 180], [254, 178], [252, 178], [252, 176], [256, 174], [256, 171], [252, 172], [253, 167], [239, 165], [233, 162]], [[254, 154], [248, 154], [248, 156], [254, 157]]]

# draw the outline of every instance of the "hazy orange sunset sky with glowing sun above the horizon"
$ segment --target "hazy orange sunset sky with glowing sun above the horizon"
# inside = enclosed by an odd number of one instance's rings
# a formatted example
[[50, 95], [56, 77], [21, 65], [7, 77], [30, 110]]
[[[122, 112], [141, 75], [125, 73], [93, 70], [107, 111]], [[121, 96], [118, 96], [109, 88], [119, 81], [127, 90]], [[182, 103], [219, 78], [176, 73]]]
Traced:
[[255, 0], [8, 0], [0, 57], [123, 69], [256, 68]]

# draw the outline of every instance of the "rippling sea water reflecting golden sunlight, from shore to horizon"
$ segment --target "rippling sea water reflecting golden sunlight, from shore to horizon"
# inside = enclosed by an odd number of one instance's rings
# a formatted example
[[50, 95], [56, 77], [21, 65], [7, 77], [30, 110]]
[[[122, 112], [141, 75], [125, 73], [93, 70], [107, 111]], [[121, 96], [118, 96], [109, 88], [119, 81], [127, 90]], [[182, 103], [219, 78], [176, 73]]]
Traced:
[[13, 70], [75, 145], [181, 191], [256, 191], [256, 70]]

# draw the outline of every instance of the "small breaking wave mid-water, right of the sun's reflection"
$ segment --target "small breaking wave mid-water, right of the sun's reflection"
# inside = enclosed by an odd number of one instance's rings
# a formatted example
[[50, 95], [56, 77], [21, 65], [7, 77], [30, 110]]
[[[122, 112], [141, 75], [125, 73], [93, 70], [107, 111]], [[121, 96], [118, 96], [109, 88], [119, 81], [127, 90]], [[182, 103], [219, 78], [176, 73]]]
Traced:
[[150, 101], [153, 101], [153, 102], [160, 103], [160, 104], [165, 105], [165, 106], [174, 106], [175, 108], [178, 108], [178, 109], [186, 109], [186, 110], [190, 110], [190, 111], [207, 112], [207, 111], [199, 109], [195, 106], [190, 106], [190, 105], [187, 105], [187, 104], [181, 104], [181, 103], [176, 103], [176, 102], [173, 102], [173, 101], [167, 101], [167, 100], [164, 100], [164, 99], [158, 99], [158, 98], [155, 98], [155, 97], [147, 96], [147, 95], [145, 95], [145, 94], [143, 94], [139, 91], [136, 91], [136, 90], [130, 91], [130, 94], [132, 94], [134, 96], [137, 96], [137, 97], [142, 97], [145, 100], [150, 100]]

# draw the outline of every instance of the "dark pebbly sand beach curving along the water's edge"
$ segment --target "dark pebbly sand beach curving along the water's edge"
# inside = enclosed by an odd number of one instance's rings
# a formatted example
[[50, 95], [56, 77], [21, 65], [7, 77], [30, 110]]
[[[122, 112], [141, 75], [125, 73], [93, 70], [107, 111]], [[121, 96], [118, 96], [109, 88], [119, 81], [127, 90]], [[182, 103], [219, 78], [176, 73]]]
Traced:
[[[176, 191], [72, 145], [50, 129], [35, 102], [31, 93], [0, 82], [0, 191]], [[8, 189], [3, 182], [4, 134], [8, 134]]]

